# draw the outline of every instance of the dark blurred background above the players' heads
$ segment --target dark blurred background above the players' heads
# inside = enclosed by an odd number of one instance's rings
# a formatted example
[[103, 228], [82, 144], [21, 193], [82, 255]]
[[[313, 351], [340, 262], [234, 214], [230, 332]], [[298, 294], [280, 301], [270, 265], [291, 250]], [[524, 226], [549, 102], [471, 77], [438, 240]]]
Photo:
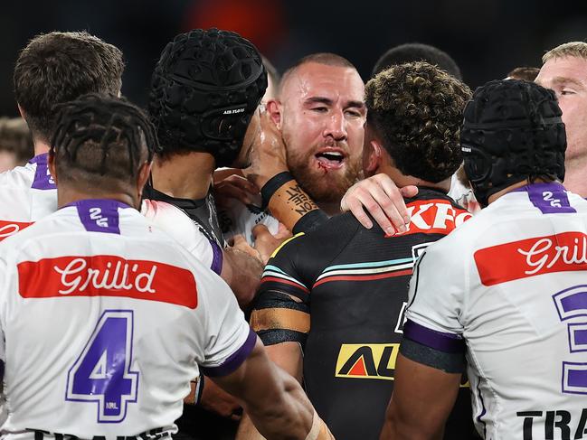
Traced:
[[12, 70], [37, 33], [87, 30], [117, 45], [127, 69], [122, 91], [145, 105], [160, 51], [176, 33], [216, 26], [251, 39], [283, 71], [299, 57], [333, 51], [365, 80], [402, 42], [450, 53], [475, 88], [544, 51], [587, 39], [587, 2], [575, 0], [5, 0], [0, 4], [0, 116], [16, 116]]

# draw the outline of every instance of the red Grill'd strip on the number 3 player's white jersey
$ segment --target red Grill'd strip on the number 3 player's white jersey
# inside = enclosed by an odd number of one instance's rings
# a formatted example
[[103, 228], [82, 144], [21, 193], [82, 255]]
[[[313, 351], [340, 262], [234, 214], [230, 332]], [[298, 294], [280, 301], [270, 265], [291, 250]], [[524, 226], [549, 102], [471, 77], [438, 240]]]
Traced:
[[553, 272], [587, 270], [587, 235], [564, 232], [524, 239], [480, 249], [474, 257], [484, 286]]

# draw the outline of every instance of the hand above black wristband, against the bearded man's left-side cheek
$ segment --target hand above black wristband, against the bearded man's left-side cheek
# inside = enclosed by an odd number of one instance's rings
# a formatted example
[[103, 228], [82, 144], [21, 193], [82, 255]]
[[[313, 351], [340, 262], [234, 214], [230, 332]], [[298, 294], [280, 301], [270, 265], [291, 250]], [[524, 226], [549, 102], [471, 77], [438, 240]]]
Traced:
[[260, 134], [252, 145], [251, 165], [242, 173], [262, 188], [271, 177], [288, 171], [285, 143], [267, 111], [260, 113]]

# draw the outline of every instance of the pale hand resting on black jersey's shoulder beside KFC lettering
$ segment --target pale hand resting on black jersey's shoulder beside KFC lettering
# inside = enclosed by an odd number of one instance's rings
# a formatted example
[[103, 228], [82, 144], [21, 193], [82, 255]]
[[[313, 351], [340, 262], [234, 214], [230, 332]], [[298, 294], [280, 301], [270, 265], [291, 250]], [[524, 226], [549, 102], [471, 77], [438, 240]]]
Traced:
[[387, 174], [375, 174], [348, 189], [340, 201], [340, 210], [353, 212], [356, 220], [371, 229], [373, 222], [365, 213], [365, 207], [386, 234], [394, 235], [405, 232], [410, 222], [403, 197], [413, 197], [417, 193], [416, 186], [398, 188]]

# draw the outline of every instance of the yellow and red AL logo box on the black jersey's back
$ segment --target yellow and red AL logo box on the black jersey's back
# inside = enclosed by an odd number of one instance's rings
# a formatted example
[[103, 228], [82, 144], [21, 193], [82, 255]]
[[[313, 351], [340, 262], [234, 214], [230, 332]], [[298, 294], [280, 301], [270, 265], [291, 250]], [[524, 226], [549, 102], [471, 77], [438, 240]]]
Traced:
[[399, 343], [345, 343], [338, 352], [336, 378], [393, 380], [399, 348]]

